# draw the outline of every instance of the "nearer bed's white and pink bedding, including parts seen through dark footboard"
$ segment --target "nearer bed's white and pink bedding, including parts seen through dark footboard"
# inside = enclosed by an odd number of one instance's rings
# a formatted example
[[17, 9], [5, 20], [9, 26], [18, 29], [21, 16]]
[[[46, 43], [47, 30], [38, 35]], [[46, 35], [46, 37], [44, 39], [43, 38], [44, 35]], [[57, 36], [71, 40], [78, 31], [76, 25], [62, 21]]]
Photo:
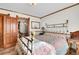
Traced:
[[[22, 37], [21, 40], [27, 44], [27, 40]], [[56, 55], [56, 50], [55, 48], [44, 41], [40, 41], [37, 39], [33, 40], [33, 45], [32, 45], [32, 52], [30, 53], [30, 51], [28, 51], [27, 47], [24, 46], [24, 44], [20, 41], [20, 39], [18, 39], [19, 42], [19, 46], [23, 49], [24, 54], [27, 55]], [[29, 43], [28, 48], [31, 49], [31, 43]]]

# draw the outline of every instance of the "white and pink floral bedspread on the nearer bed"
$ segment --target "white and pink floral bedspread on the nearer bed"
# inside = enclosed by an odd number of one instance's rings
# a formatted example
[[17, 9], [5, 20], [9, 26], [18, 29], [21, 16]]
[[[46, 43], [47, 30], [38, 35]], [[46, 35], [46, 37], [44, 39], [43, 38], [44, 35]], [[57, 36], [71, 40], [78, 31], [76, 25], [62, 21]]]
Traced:
[[55, 48], [43, 41], [34, 40], [33, 55], [55, 55]]

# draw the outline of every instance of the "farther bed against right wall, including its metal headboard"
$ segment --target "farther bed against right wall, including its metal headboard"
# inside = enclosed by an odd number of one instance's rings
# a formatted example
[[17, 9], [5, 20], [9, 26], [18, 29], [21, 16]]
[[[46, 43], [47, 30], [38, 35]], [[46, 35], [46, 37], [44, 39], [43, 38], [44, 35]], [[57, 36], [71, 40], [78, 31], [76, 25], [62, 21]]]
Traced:
[[69, 48], [67, 39], [70, 37], [67, 35], [68, 20], [58, 24], [45, 23], [44, 28], [44, 35], [36, 35], [35, 38], [51, 44], [56, 50], [56, 55], [65, 55]]

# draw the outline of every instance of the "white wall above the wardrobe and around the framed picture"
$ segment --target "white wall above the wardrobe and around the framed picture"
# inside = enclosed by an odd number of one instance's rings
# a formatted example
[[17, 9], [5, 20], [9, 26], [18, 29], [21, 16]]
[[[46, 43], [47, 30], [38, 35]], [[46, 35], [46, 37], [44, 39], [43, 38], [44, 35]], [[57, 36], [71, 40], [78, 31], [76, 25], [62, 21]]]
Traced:
[[[19, 14], [19, 13], [15, 13], [15, 12], [10, 12], [10, 11], [6, 11], [6, 10], [0, 10], [0, 13], [2, 13], [2, 14], [10, 14], [10, 16], [12, 16], [12, 17], [16, 17], [16, 15], [18, 15], [19, 17], [25, 17], [25, 18], [30, 17], [30, 31], [36, 31], [36, 29], [31, 29], [31, 21], [40, 22], [39, 18], [35, 18], [35, 17], [31, 17], [31, 16], [28, 16], [28, 15], [23, 15], [23, 14]], [[39, 30], [39, 29], [37, 29], [37, 30]]]

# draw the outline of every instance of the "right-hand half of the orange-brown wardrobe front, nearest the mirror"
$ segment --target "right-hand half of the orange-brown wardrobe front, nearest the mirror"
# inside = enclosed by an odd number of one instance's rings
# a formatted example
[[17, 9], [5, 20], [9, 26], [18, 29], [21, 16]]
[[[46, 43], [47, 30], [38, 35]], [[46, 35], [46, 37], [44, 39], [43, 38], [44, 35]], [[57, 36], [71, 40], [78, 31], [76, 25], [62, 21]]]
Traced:
[[12, 45], [17, 43], [17, 35], [18, 35], [18, 21], [17, 18], [11, 17], [11, 42]]

